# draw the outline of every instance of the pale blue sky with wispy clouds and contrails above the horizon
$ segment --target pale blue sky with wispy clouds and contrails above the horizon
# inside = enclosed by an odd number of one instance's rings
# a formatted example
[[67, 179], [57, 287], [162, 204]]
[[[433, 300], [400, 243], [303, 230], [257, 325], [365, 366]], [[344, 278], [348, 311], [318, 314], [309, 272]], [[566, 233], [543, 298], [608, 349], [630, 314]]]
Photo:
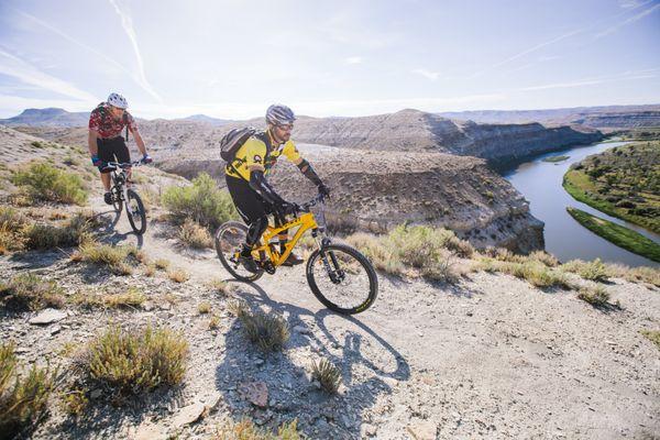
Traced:
[[660, 103], [660, 0], [0, 0], [0, 118]]

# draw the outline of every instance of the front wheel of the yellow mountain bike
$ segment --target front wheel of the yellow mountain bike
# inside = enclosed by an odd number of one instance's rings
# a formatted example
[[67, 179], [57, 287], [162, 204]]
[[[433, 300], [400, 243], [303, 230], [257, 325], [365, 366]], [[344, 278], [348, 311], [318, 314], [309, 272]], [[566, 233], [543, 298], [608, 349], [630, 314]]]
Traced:
[[328, 244], [307, 261], [307, 283], [330, 310], [354, 315], [374, 304], [378, 278], [370, 261], [345, 244]]

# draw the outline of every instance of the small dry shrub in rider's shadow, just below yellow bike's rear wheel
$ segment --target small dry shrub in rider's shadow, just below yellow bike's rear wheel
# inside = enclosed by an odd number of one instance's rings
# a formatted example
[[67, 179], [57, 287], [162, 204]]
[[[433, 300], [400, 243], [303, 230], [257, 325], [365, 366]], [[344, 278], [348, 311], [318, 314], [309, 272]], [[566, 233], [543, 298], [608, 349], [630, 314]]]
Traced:
[[242, 301], [230, 304], [230, 311], [243, 324], [243, 331], [248, 339], [263, 352], [282, 350], [289, 339], [286, 320], [276, 314], [252, 311]]

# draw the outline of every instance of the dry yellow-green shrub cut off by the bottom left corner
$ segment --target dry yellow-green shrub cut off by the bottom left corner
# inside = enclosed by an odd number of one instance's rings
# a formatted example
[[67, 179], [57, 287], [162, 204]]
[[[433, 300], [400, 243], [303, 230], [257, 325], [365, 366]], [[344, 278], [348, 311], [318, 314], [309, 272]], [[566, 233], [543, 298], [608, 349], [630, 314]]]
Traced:
[[0, 438], [12, 439], [46, 410], [57, 371], [33, 365], [19, 375], [13, 343], [0, 345]]

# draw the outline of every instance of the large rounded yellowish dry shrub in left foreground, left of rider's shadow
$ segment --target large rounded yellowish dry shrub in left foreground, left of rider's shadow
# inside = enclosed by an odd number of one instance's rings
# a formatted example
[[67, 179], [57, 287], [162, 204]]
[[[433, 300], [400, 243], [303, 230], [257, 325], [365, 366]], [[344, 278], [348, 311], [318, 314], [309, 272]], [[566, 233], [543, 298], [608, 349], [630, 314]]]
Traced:
[[87, 346], [82, 366], [95, 381], [120, 394], [141, 394], [177, 385], [186, 373], [188, 342], [169, 329], [113, 326]]

